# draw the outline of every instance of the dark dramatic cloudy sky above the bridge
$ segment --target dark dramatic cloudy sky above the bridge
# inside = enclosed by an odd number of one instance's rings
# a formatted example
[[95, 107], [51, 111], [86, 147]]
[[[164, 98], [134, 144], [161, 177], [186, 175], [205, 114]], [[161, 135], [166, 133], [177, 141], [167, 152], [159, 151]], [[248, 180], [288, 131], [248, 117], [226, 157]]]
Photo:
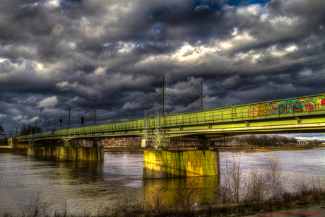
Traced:
[[[1, 0], [0, 124], [66, 128], [325, 93], [324, 0]], [[184, 98], [187, 97], [187, 98]], [[76, 110], [76, 111], [75, 111]], [[297, 135], [298, 136], [298, 135]], [[309, 136], [324, 136], [312, 135]]]

